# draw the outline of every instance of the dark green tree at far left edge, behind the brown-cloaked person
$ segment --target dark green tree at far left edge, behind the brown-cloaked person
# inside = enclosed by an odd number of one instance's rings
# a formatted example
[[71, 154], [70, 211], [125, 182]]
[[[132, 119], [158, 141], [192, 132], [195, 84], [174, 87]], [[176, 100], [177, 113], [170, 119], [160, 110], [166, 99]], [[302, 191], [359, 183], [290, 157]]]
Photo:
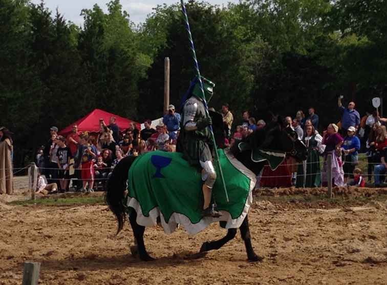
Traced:
[[0, 1], [0, 108], [2, 125], [14, 132], [16, 165], [31, 145], [27, 138], [39, 121], [40, 94], [46, 90], [31, 64], [30, 10], [27, 1]]

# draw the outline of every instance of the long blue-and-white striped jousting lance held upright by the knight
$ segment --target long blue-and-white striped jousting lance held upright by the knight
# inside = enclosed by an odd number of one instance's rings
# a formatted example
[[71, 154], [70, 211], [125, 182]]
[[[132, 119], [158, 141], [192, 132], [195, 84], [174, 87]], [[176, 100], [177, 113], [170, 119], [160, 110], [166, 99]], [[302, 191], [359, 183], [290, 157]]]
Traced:
[[[196, 74], [197, 74], [198, 79], [199, 79], [200, 90], [203, 94], [203, 103], [204, 103], [204, 107], [206, 110], [206, 116], [209, 117], [207, 100], [206, 100], [206, 96], [204, 94], [203, 82], [202, 82], [202, 77], [200, 76], [200, 70], [199, 70], [198, 59], [196, 57], [195, 46], [193, 45], [191, 29], [189, 27], [189, 22], [188, 22], [187, 10], [185, 9], [184, 1], [180, 0], [180, 2], [181, 2], [181, 9], [182, 9], [182, 12], [184, 15], [185, 28], [187, 29], [187, 32], [188, 32], [188, 39], [189, 39], [189, 44], [190, 44], [190, 48], [191, 48], [191, 52], [192, 52], [192, 56], [193, 56], [193, 63], [194, 63], [194, 67], [196, 70]], [[217, 143], [215, 141], [215, 136], [213, 135], [212, 126], [210, 125], [208, 127], [209, 127], [210, 134], [211, 134], [212, 144], [214, 145], [215, 150], [217, 150]], [[222, 167], [221, 167], [220, 160], [219, 160], [219, 154], [218, 154], [218, 151], [214, 151], [214, 153], [215, 153], [215, 158], [216, 158], [217, 164], [218, 164], [219, 174], [220, 174], [220, 177], [222, 179], [224, 193], [226, 194], [226, 201], [229, 202], [227, 189], [226, 189], [226, 183], [224, 182], [223, 171], [222, 171]]]

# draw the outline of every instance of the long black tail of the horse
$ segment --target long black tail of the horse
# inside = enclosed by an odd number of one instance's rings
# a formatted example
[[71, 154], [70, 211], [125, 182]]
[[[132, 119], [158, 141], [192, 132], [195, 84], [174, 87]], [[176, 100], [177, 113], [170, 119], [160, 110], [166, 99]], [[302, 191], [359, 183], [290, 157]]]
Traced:
[[122, 200], [126, 190], [126, 181], [128, 171], [136, 159], [135, 156], [127, 156], [122, 158], [113, 170], [109, 180], [107, 180], [106, 203], [110, 210], [117, 217], [118, 230], [117, 234], [122, 230], [125, 222], [125, 208]]

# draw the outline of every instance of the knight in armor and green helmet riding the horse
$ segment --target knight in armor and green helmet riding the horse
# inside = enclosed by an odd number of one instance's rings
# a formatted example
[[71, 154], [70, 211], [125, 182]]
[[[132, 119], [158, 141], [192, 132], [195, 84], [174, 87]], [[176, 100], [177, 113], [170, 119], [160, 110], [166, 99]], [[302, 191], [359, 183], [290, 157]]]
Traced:
[[[208, 102], [213, 94], [212, 82], [202, 77], [205, 99]], [[181, 130], [178, 142], [178, 151], [183, 153], [183, 157], [189, 164], [199, 167], [202, 173], [203, 186], [203, 210], [202, 215], [207, 217], [220, 217], [221, 213], [214, 209], [211, 203], [211, 192], [217, 173], [212, 161], [212, 153], [209, 148], [211, 144], [210, 130], [212, 125], [210, 116], [206, 116], [205, 105], [203, 103], [203, 92], [200, 89], [198, 77], [196, 77], [183, 99]]]

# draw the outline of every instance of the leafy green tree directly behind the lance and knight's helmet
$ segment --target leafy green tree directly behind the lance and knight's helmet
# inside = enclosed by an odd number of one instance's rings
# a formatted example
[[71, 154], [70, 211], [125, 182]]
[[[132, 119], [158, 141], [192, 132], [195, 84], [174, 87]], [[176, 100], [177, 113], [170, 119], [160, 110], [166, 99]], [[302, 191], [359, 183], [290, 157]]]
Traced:
[[[228, 8], [194, 1], [189, 1], [186, 8], [201, 73], [216, 83], [210, 105], [219, 109], [222, 102], [228, 102], [239, 113], [249, 104], [253, 62], [259, 51], [256, 46], [261, 43], [258, 40], [252, 44], [241, 43], [243, 35], [234, 28], [235, 21], [228, 14]], [[142, 32], [144, 38], [155, 35], [150, 42], [156, 45], [150, 50], [156, 56], [147, 76], [153, 84], [145, 81], [140, 85], [139, 110], [145, 118], [162, 115], [164, 84], [160, 74], [164, 72], [166, 56], [171, 61], [170, 101], [177, 106], [182, 103], [195, 69], [180, 6], [159, 6], [148, 17]], [[150, 101], [151, 106], [144, 104]]]

